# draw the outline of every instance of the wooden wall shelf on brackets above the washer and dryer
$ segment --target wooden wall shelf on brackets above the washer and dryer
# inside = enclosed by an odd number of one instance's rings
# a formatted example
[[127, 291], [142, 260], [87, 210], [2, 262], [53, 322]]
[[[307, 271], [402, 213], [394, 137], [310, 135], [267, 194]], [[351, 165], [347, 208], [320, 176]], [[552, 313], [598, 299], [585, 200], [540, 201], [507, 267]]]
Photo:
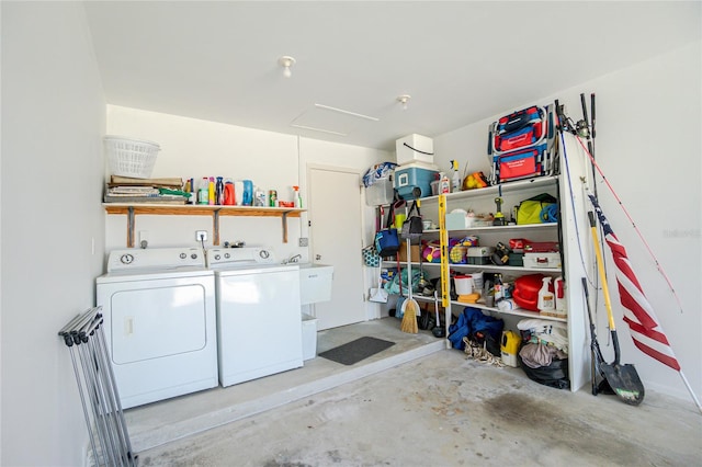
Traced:
[[136, 216], [212, 216], [212, 244], [219, 244], [219, 216], [240, 217], [280, 217], [283, 229], [283, 243], [287, 243], [287, 218], [299, 217], [306, 209], [294, 207], [259, 207], [259, 206], [211, 206], [189, 204], [136, 204], [136, 203], [103, 203], [107, 214], [127, 216], [127, 248], [134, 248]]

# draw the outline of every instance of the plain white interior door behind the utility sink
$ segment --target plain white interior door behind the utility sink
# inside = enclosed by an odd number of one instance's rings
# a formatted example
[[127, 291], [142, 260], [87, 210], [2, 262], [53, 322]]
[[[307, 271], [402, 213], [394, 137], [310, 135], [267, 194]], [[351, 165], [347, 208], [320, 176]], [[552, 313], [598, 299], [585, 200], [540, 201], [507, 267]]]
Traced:
[[365, 321], [359, 173], [310, 168], [310, 260], [333, 265], [331, 300], [312, 306], [317, 330]]

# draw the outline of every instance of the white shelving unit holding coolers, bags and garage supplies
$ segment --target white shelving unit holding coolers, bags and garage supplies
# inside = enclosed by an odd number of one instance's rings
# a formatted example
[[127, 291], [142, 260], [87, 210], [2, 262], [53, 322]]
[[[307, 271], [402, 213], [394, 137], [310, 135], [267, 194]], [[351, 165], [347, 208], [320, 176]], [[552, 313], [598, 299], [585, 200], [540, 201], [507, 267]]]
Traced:
[[[577, 174], [573, 175], [574, 178]], [[577, 179], [576, 179], [577, 180]], [[439, 205], [444, 203], [445, 212], [450, 213], [455, 208], [465, 210], [473, 209], [476, 213], [494, 213], [496, 209], [495, 198], [500, 196], [503, 200], [502, 212], [506, 218], [511, 217], [511, 206], [517, 206], [519, 202], [530, 198], [541, 193], [550, 193], [556, 198], [562, 200], [561, 203], [561, 223], [536, 224], [536, 225], [508, 225], [508, 226], [486, 226], [472, 227], [460, 230], [431, 229], [426, 230], [423, 239], [444, 241], [449, 236], [454, 238], [475, 235], [479, 238], [482, 246], [495, 246], [497, 241], [507, 243], [511, 238], [528, 238], [532, 241], [562, 241], [561, 250], [563, 253], [563, 265], [561, 269], [552, 267], [524, 267], [524, 266], [498, 266], [494, 264], [451, 264], [448, 260], [444, 263], [422, 262], [422, 267], [431, 277], [445, 274], [448, 277], [449, 269], [455, 271], [477, 272], [484, 271], [488, 273], [501, 273], [507, 277], [518, 277], [524, 274], [541, 273], [556, 277], [563, 275], [566, 278], [566, 300], [568, 303], [567, 318], [544, 316], [536, 311], [524, 309], [512, 309], [502, 311], [496, 307], [487, 307], [484, 304], [465, 304], [461, 301], [450, 300], [448, 287], [443, 291], [443, 304], [446, 307], [446, 319], [450, 319], [449, 312], [457, 311], [458, 307], [472, 306], [496, 315], [505, 319], [506, 329], [514, 328], [516, 322], [522, 318], [540, 318], [552, 321], [567, 322], [568, 324], [568, 372], [570, 379], [570, 390], [576, 391], [589, 380], [589, 346], [586, 327], [586, 312], [581, 295], [580, 280], [581, 273], [580, 257], [577, 252], [577, 241], [582, 241], [580, 236], [576, 235], [575, 219], [579, 214], [574, 212], [577, 204], [581, 204], [579, 200], [581, 194], [571, 193], [570, 184], [564, 182], [562, 176], [541, 176], [523, 181], [514, 181], [501, 185], [488, 186], [485, 189], [449, 193], [440, 196], [430, 196], [421, 198], [421, 213], [424, 219], [431, 219], [438, 225], [443, 226], [444, 223], [439, 218]], [[573, 200], [570, 200], [570, 197]], [[567, 201], [567, 202], [566, 202]], [[582, 220], [580, 220], [582, 223]], [[585, 224], [581, 224], [585, 226]], [[580, 248], [587, 248], [580, 246]], [[448, 259], [448, 252], [443, 255]], [[388, 261], [386, 265], [394, 265]], [[419, 265], [419, 262], [412, 262], [412, 266]], [[445, 269], [445, 272], [443, 271]], [[434, 275], [435, 274], [435, 275]], [[569, 280], [569, 276], [575, 278]], [[442, 281], [444, 282], [444, 281]], [[511, 281], [509, 281], [511, 282]], [[420, 298], [420, 297], [417, 297]], [[433, 299], [432, 299], [433, 300]]]

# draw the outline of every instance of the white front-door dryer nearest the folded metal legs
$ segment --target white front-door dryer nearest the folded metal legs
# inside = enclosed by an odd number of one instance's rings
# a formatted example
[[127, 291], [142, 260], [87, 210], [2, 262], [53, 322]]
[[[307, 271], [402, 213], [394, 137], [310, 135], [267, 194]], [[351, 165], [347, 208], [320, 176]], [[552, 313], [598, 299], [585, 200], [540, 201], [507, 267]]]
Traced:
[[202, 249], [115, 250], [95, 281], [124, 409], [218, 385], [215, 278]]

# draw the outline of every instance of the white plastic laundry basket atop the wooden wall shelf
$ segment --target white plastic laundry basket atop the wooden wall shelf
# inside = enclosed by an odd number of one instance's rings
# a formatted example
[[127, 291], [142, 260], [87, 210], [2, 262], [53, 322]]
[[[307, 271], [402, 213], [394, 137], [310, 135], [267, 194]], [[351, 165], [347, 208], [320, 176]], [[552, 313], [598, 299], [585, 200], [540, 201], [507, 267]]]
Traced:
[[145, 139], [105, 136], [105, 150], [113, 175], [148, 179], [160, 146]]

